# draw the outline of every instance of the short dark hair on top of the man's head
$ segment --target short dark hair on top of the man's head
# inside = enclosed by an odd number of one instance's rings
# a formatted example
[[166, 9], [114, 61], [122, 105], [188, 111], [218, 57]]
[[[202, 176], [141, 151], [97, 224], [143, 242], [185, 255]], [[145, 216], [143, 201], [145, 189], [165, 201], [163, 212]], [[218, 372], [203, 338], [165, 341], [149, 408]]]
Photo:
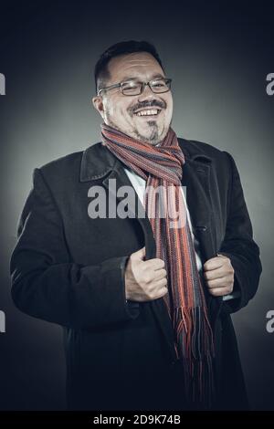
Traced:
[[101, 54], [99, 60], [95, 65], [94, 78], [96, 93], [100, 88], [105, 87], [107, 85], [106, 81], [111, 78], [111, 74], [108, 69], [108, 64], [111, 61], [111, 58], [125, 54], [132, 54], [133, 52], [148, 52], [158, 61], [160, 66], [163, 68], [163, 64], [158, 55], [158, 52], [156, 51], [156, 48], [153, 46], [153, 44], [151, 44], [150, 42], [146, 42], [145, 40], [127, 40], [124, 42], [116, 43], [115, 45], [108, 47]]

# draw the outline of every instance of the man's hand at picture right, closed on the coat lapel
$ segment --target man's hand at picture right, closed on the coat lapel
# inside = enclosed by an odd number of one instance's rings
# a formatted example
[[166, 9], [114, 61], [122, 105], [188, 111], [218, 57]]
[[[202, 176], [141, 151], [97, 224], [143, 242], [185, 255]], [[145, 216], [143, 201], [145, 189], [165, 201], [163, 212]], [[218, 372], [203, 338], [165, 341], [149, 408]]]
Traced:
[[204, 264], [205, 283], [214, 297], [230, 294], [234, 286], [234, 268], [229, 257], [220, 255]]

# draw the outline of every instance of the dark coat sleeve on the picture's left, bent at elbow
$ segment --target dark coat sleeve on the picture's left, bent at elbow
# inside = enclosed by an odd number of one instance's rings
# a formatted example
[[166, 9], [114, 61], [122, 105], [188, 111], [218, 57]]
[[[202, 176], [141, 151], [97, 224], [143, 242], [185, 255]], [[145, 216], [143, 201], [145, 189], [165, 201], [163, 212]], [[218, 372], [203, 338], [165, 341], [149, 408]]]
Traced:
[[43, 173], [34, 170], [10, 259], [11, 292], [18, 309], [74, 329], [135, 319], [139, 303], [125, 299], [128, 257], [90, 266], [71, 261], [58, 207]]

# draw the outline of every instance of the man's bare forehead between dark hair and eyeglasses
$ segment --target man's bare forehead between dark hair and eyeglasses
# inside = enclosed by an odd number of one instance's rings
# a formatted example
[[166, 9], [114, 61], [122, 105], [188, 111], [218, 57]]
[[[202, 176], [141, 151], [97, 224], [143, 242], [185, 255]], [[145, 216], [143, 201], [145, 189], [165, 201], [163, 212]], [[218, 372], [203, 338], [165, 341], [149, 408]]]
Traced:
[[134, 52], [111, 58], [108, 68], [111, 73], [111, 80], [152, 78], [154, 74], [164, 76], [158, 61], [148, 52]]

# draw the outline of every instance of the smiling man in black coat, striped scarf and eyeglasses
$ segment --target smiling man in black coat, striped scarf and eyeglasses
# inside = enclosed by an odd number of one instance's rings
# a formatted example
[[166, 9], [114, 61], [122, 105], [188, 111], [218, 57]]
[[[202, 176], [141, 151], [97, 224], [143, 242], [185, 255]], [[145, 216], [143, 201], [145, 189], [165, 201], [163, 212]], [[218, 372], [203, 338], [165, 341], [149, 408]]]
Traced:
[[[11, 258], [16, 306], [64, 327], [69, 409], [247, 409], [230, 313], [261, 264], [236, 164], [177, 138], [151, 44], [107, 49], [95, 82], [101, 141], [35, 169]], [[125, 185], [139, 208], [119, 216]]]

